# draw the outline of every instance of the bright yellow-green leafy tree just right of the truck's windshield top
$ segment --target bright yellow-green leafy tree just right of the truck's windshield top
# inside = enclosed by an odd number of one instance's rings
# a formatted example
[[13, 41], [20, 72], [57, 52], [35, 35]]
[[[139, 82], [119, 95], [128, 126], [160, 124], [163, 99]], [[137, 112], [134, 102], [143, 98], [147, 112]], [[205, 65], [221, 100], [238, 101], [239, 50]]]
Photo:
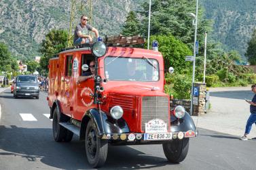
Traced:
[[192, 52], [182, 41], [175, 39], [172, 35], [153, 35], [150, 39], [158, 41], [158, 49], [164, 57], [166, 70], [170, 66], [175, 68], [175, 72], [191, 68], [189, 62], [185, 62], [185, 56], [191, 56]]

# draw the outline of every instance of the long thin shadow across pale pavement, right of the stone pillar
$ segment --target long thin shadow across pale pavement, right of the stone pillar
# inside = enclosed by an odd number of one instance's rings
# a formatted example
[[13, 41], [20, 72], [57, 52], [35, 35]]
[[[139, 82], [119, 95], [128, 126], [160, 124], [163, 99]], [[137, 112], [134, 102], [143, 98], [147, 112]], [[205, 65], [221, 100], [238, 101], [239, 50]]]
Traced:
[[240, 100], [244, 100], [244, 98], [246, 98], [248, 100], [251, 100], [253, 98], [253, 92], [251, 90], [217, 91], [217, 92], [210, 92], [210, 96], [218, 97], [218, 98], [240, 99]]

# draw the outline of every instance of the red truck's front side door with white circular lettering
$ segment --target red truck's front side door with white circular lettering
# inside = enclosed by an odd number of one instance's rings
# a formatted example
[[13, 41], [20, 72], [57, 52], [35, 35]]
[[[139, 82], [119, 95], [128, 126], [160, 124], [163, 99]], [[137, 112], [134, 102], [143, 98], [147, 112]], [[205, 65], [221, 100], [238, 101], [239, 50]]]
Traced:
[[[90, 62], [94, 60], [92, 54], [82, 54], [81, 62], [79, 62], [79, 76], [84, 75], [85, 73], [90, 73], [90, 68], [88, 71], [81, 70], [83, 64], [90, 66]], [[79, 84], [77, 84], [77, 93], [76, 93], [76, 104], [75, 104], [75, 114], [73, 115], [74, 119], [81, 120], [86, 110], [94, 107], [92, 94], [94, 93], [94, 79], [87, 79]]]

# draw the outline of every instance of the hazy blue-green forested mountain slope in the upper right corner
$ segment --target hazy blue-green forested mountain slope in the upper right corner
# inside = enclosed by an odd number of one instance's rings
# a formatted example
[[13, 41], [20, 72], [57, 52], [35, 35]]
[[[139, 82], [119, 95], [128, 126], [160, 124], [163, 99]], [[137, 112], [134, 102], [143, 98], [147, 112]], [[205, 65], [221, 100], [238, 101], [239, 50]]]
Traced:
[[242, 56], [256, 28], [255, 0], [202, 0], [205, 16], [214, 21], [211, 38]]

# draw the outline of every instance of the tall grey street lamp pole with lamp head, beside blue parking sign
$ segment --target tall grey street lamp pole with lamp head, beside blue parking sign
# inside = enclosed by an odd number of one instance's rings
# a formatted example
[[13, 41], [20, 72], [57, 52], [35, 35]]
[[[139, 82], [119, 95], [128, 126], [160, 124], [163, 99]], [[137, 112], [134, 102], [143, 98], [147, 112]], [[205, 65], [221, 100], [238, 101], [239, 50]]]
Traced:
[[195, 26], [195, 39], [194, 39], [194, 60], [193, 60], [193, 76], [191, 85], [191, 103], [190, 103], [190, 114], [193, 114], [193, 87], [195, 82], [195, 68], [196, 68], [196, 34], [198, 29], [198, 0], [196, 0], [196, 15], [193, 13], [188, 13], [189, 16], [194, 18], [193, 25]]

